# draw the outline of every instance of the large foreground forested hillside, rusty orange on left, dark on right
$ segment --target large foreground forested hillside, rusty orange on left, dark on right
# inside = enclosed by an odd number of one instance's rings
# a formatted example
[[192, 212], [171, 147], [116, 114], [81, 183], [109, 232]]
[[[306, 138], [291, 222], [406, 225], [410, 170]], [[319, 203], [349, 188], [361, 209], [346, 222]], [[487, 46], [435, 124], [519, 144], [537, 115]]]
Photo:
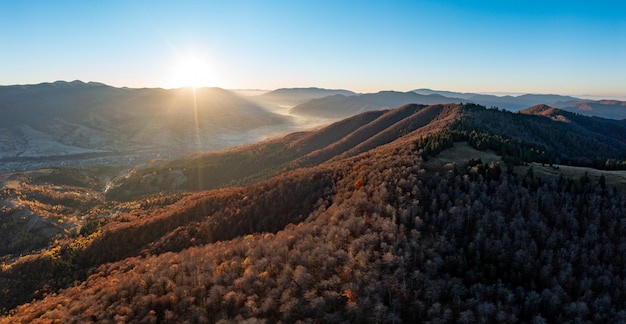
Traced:
[[[586, 141], [550, 144], [567, 131]], [[0, 322], [626, 321], [626, 194], [611, 171], [512, 161], [577, 146], [593, 160], [600, 144], [624, 161], [624, 137], [620, 122], [544, 106], [406, 105], [162, 162], [119, 184], [195, 164], [216, 189], [103, 204], [118, 212], [93, 231], [3, 265]]]

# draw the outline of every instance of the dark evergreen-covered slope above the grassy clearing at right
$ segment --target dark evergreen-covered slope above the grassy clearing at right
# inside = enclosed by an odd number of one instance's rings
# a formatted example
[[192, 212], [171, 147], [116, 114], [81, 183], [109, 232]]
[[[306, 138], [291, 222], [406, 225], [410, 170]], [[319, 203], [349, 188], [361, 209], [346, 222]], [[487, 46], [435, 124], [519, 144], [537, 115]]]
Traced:
[[455, 141], [494, 150], [511, 163], [626, 170], [626, 124], [622, 121], [560, 111], [564, 122], [475, 104], [462, 108], [465, 116], [450, 130]]

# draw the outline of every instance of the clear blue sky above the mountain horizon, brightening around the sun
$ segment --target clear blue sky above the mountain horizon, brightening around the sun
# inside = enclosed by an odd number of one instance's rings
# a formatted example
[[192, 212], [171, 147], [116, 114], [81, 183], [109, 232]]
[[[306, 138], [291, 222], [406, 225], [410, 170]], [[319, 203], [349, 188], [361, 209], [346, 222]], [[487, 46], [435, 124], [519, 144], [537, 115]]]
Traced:
[[0, 0], [0, 84], [626, 97], [626, 1]]

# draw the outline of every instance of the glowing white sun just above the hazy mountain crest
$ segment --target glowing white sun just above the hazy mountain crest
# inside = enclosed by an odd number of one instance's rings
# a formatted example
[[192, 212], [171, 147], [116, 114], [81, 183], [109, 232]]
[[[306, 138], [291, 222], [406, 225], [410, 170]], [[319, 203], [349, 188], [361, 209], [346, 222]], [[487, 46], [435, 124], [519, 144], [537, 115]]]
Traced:
[[202, 88], [215, 86], [210, 64], [195, 56], [181, 57], [172, 69], [172, 88]]

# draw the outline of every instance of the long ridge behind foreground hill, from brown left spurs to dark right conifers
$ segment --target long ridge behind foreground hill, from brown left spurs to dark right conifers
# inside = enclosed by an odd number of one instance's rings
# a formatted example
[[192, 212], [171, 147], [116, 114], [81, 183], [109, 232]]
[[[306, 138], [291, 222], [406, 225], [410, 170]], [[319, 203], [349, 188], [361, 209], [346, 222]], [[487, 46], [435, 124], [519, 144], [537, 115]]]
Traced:
[[410, 145], [444, 130], [449, 136], [454, 133], [457, 141], [477, 141], [477, 147], [511, 156], [514, 163], [624, 167], [626, 121], [555, 109], [547, 118], [537, 107], [511, 113], [473, 104], [410, 104], [366, 112], [315, 131], [133, 170], [115, 179], [106, 194], [109, 199], [128, 200], [162, 191], [249, 184], [281, 170], [346, 158], [392, 142]]

